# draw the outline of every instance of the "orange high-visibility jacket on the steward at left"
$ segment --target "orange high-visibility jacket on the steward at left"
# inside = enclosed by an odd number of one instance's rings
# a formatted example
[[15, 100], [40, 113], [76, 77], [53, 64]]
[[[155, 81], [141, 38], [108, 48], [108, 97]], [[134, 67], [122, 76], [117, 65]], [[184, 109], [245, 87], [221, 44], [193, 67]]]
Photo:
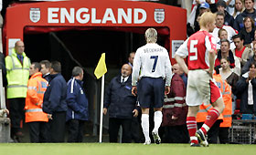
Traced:
[[42, 73], [37, 72], [27, 83], [27, 98], [25, 106], [26, 122], [31, 121], [46, 121], [48, 122], [48, 115], [43, 112], [42, 104], [44, 93], [48, 87], [48, 81], [42, 78]]

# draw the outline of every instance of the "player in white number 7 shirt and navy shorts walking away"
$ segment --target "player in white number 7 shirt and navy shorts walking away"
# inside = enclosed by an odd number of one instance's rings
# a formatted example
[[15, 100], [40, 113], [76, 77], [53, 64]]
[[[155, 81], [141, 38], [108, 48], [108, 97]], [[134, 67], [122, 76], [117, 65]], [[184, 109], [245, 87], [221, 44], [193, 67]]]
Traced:
[[[165, 47], [156, 44], [157, 32], [154, 28], [148, 28], [145, 31], [145, 39], [147, 44], [137, 49], [133, 60], [132, 93], [135, 96], [138, 89], [138, 100], [142, 108], [144, 145], [148, 145], [151, 143], [149, 138], [149, 108], [151, 104], [155, 110], [153, 138], [156, 144], [161, 142], [158, 129], [163, 118], [164, 97], [170, 91], [172, 66]], [[139, 78], [139, 83], [137, 83]]]

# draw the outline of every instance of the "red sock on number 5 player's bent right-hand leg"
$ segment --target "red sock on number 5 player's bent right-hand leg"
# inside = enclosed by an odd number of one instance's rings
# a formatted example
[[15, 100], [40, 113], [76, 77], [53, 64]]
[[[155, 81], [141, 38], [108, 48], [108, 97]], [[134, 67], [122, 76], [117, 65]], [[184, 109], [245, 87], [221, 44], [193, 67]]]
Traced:
[[[211, 109], [208, 112], [208, 116], [205, 121], [205, 124], [201, 128], [205, 135], [207, 134], [208, 129], [210, 129], [212, 127], [212, 125], [215, 123], [215, 121], [218, 118], [219, 118], [219, 111], [217, 109]], [[207, 125], [207, 127], [205, 125]]]

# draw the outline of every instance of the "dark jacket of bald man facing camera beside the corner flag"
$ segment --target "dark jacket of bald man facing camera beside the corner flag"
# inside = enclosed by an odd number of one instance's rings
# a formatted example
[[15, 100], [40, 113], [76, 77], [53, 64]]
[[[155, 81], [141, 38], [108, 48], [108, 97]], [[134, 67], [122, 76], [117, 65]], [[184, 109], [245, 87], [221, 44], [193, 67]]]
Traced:
[[110, 118], [132, 119], [136, 98], [132, 94], [132, 77], [121, 83], [121, 76], [112, 78], [104, 99]]

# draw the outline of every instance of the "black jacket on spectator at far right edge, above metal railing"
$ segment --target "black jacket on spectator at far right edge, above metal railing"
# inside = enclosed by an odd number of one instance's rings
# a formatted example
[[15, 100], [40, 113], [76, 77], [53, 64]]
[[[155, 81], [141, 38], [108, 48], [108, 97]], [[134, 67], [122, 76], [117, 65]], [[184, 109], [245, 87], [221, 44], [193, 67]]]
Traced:
[[[246, 73], [247, 74], [247, 73]], [[256, 78], [251, 79], [253, 91], [253, 106], [248, 105], [248, 86], [245, 76], [241, 76], [237, 82], [237, 92], [240, 94], [240, 112], [246, 114], [256, 114]]]

